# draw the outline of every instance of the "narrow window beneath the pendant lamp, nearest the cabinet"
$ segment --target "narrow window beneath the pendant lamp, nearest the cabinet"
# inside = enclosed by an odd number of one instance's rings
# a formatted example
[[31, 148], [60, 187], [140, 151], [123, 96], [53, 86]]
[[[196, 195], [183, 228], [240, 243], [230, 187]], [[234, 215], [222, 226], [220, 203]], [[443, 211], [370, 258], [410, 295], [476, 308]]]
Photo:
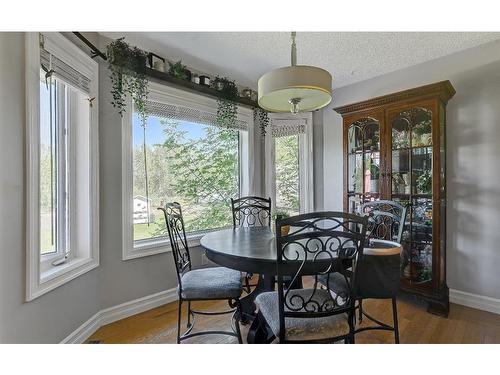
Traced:
[[266, 135], [266, 192], [274, 209], [313, 210], [312, 115], [272, 114]]

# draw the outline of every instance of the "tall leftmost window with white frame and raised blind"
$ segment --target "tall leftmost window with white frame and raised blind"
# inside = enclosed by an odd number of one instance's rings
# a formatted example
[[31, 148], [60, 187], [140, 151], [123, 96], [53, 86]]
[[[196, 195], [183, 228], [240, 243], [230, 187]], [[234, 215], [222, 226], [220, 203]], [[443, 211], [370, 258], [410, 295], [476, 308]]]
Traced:
[[57, 33], [26, 45], [31, 300], [99, 264], [97, 64]]

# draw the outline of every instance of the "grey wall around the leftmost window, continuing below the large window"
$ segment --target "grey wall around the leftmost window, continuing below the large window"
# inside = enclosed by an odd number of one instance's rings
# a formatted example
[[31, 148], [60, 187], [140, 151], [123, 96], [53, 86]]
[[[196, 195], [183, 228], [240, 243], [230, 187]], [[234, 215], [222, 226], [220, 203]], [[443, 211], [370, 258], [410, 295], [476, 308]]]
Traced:
[[100, 266], [25, 303], [24, 34], [0, 33], [0, 343], [58, 343], [101, 309], [177, 285], [171, 253], [121, 260], [121, 118], [102, 61], [99, 75]]

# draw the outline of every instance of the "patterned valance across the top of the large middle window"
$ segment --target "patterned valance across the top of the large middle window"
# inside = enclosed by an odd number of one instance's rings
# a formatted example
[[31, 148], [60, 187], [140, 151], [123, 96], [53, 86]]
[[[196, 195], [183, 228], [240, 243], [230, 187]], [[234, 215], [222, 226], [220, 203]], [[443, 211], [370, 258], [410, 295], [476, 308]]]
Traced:
[[[149, 116], [163, 117], [166, 119], [189, 121], [198, 124], [220, 127], [220, 125], [217, 123], [217, 116], [213, 113], [204, 112], [198, 109], [180, 105], [158, 103], [152, 100], [146, 100], [146, 114], [148, 114]], [[224, 127], [247, 130], [248, 124], [245, 121], [237, 120], [234, 125]]]

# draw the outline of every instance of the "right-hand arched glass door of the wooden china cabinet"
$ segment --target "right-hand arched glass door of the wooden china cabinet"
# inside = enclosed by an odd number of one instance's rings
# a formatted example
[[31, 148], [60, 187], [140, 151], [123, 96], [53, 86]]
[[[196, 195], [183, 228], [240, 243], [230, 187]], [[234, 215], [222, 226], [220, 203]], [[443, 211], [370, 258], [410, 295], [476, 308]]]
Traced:
[[403, 232], [402, 276], [410, 283], [432, 279], [432, 111], [395, 113], [391, 131], [391, 197], [410, 204]]

